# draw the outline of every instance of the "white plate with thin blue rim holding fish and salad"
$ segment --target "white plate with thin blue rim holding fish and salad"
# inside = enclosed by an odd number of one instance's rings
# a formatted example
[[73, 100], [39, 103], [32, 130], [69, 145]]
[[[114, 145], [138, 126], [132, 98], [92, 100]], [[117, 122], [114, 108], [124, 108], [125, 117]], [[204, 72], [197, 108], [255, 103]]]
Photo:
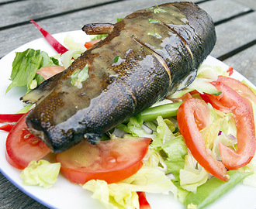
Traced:
[[[70, 34], [76, 42], [85, 43], [89, 40], [89, 37], [82, 31], [71, 31], [66, 33], [55, 34], [54, 37], [61, 43], [64, 41], [64, 37]], [[43, 50], [50, 56], [54, 56], [56, 51], [50, 46], [49, 43], [43, 38], [33, 40], [20, 46], [16, 50], [7, 54], [0, 60], [1, 76], [0, 76], [0, 113], [16, 113], [22, 108], [22, 102], [19, 98], [26, 92], [20, 87], [15, 87], [8, 94], [5, 94], [6, 88], [9, 86], [9, 77], [12, 72], [12, 60], [15, 57], [15, 52], [24, 51], [27, 48], [33, 48], [34, 50]], [[205, 63], [209, 65], [221, 66], [224, 69], [228, 69], [227, 65], [216, 60], [213, 57], [207, 57]], [[234, 71], [233, 77], [238, 80], [245, 79], [241, 74]], [[251, 84], [250, 81], [247, 81]], [[253, 86], [253, 84], [251, 84]], [[59, 175], [57, 183], [50, 189], [43, 189], [43, 187], [26, 186], [22, 184], [22, 180], [19, 175], [21, 170], [17, 170], [7, 163], [5, 160], [5, 139], [7, 137], [6, 132], [0, 131], [0, 171], [6, 176], [16, 187], [22, 192], [32, 197], [34, 200], [50, 208], [104, 208], [98, 200], [92, 199], [92, 193], [82, 189], [78, 184], [70, 183], [64, 176]], [[216, 200], [209, 207], [213, 208], [232, 208], [232, 209], [254, 209], [256, 208], [256, 188], [248, 187], [245, 185], [238, 185], [228, 194]], [[164, 194], [147, 194], [147, 200], [150, 203], [152, 209], [154, 208], [172, 208], [182, 209], [185, 208], [178, 200], [170, 195]]]

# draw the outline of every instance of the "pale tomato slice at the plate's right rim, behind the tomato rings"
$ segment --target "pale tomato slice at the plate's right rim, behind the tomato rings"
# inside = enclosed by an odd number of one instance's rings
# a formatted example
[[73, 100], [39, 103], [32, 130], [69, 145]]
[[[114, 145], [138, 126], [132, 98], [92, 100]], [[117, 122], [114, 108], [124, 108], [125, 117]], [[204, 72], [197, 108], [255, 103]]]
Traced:
[[240, 94], [240, 96], [247, 98], [249, 101], [251, 101], [253, 105], [256, 105], [256, 95], [253, 91], [251, 91], [250, 87], [247, 87], [247, 85], [243, 84], [240, 81], [237, 81], [232, 77], [225, 76], [219, 76], [218, 81], [221, 81], [221, 83], [233, 88], [234, 91]]

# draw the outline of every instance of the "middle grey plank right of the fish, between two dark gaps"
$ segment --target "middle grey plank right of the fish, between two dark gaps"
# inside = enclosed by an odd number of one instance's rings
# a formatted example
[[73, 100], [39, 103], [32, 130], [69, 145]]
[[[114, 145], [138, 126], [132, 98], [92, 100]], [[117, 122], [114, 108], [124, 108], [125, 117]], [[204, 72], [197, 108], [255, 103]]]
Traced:
[[211, 55], [221, 57], [236, 48], [256, 39], [256, 12], [216, 26], [216, 46]]

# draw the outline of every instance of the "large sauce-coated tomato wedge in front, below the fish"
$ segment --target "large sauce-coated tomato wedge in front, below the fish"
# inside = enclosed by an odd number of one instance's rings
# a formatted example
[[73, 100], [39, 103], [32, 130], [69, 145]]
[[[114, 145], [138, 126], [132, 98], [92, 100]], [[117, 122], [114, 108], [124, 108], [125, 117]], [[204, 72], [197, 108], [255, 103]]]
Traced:
[[106, 180], [114, 183], [124, 180], [140, 169], [147, 154], [149, 138], [111, 139], [92, 145], [86, 140], [57, 154], [61, 173], [73, 183], [88, 180]]

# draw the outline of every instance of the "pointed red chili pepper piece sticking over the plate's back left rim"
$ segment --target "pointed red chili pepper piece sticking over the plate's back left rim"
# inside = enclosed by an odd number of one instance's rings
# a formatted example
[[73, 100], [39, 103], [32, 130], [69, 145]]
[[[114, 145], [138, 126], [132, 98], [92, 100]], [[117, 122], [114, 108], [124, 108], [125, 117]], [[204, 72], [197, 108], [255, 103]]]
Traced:
[[40, 32], [43, 34], [45, 39], [47, 39], [50, 45], [54, 47], [54, 50], [56, 50], [57, 53], [65, 53], [68, 51], [65, 46], [63, 46], [61, 43], [57, 41], [57, 39], [54, 38], [54, 36], [51, 36], [50, 33], [48, 33], [45, 29], [39, 26], [35, 21], [33, 21], [33, 19], [30, 20], [30, 22], [33, 22], [36, 28], [40, 30]]

